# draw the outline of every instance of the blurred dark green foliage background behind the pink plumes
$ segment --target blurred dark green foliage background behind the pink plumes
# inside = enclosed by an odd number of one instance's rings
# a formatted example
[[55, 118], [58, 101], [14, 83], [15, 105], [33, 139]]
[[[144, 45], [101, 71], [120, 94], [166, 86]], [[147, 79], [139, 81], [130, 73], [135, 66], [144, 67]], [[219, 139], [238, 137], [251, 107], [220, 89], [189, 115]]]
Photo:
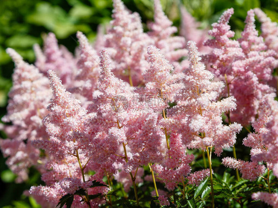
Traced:
[[[144, 26], [153, 18], [151, 0], [123, 0], [132, 11], [139, 12]], [[180, 25], [179, 5], [182, 3], [198, 20], [202, 27], [217, 21], [227, 8], [234, 8], [230, 25], [236, 37], [244, 28], [244, 19], [249, 9], [261, 7], [273, 20], [278, 22], [278, 0], [161, 0], [165, 13]], [[82, 31], [93, 42], [99, 24], [111, 20], [112, 0], [0, 0], [0, 118], [5, 114], [7, 93], [11, 87], [14, 64], [5, 53], [7, 47], [14, 48], [23, 58], [33, 63], [33, 44], [42, 45], [48, 32], [53, 32], [59, 44], [74, 52], [77, 42], [75, 33]], [[259, 27], [259, 24], [258, 24]], [[0, 137], [4, 138], [3, 132]], [[240, 143], [237, 142], [237, 143]], [[240, 145], [240, 144], [238, 144]], [[249, 157], [242, 153], [241, 158]], [[248, 159], [248, 158], [247, 158]], [[247, 160], [246, 159], [246, 160]], [[30, 179], [23, 184], [14, 183], [15, 175], [5, 166], [0, 153], [0, 207], [37, 208], [32, 198], [22, 193], [31, 185], [40, 182], [40, 175], [31, 170]]]

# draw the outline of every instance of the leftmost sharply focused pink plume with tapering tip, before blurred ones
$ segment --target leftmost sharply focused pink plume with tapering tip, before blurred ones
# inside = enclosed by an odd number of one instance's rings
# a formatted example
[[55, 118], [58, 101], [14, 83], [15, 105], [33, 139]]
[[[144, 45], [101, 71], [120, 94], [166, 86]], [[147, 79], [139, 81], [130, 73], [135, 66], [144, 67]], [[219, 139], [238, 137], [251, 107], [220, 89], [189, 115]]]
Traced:
[[51, 103], [47, 109], [51, 112], [44, 118], [46, 131], [50, 138], [37, 141], [37, 145], [44, 147], [51, 155], [64, 158], [74, 153], [78, 132], [81, 124], [86, 118], [87, 111], [80, 106], [80, 101], [71, 97], [63, 87], [56, 74], [49, 70], [47, 72], [53, 92]]

